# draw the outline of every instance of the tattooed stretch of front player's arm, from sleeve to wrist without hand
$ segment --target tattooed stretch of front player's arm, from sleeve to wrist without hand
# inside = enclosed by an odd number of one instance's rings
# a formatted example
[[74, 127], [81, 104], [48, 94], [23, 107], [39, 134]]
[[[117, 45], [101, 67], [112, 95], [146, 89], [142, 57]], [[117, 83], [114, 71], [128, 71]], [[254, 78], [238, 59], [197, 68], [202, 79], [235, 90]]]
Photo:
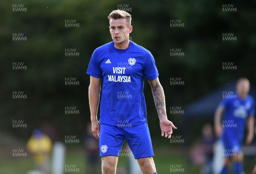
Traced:
[[159, 116], [159, 118], [161, 118], [166, 115], [166, 104], [165, 104], [163, 88], [160, 85], [160, 82], [158, 79], [149, 80], [148, 82], [152, 89], [158, 116]]

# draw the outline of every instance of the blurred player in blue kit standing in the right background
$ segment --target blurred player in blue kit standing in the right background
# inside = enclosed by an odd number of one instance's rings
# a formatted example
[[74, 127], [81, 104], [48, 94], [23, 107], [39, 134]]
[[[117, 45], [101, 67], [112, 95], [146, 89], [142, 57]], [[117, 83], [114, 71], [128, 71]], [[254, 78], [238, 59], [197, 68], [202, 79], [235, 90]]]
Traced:
[[233, 164], [235, 174], [244, 174], [242, 141], [247, 127], [245, 143], [252, 142], [254, 136], [254, 99], [248, 95], [250, 82], [240, 78], [236, 83], [236, 93], [227, 96], [215, 111], [215, 133], [224, 144], [224, 166], [220, 174], [227, 174]]

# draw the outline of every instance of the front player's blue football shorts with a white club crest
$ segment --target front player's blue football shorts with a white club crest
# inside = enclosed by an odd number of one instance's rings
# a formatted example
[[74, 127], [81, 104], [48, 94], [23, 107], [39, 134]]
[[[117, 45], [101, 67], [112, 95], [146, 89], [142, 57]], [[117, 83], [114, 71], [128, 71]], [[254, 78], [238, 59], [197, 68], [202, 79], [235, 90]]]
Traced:
[[118, 157], [125, 140], [135, 159], [154, 156], [148, 124], [143, 123], [131, 127], [101, 124], [99, 133], [100, 157]]

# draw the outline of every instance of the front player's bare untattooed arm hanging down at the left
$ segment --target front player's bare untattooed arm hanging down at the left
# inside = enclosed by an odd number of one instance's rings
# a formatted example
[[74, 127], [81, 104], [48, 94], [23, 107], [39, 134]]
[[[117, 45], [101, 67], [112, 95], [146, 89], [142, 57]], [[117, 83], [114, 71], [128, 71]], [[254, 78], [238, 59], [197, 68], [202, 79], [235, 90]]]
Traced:
[[89, 104], [90, 104], [90, 119], [92, 122], [92, 132], [94, 137], [99, 140], [100, 124], [97, 118], [99, 107], [99, 95], [100, 95], [100, 78], [90, 76], [89, 86]]

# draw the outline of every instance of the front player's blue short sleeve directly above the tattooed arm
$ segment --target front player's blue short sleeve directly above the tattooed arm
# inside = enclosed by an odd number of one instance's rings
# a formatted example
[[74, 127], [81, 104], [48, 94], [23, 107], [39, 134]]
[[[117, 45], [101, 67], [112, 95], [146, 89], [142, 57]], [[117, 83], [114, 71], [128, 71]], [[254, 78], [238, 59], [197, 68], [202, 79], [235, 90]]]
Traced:
[[153, 55], [149, 52], [145, 61], [144, 75], [147, 80], [154, 80], [158, 77], [157, 66]]

